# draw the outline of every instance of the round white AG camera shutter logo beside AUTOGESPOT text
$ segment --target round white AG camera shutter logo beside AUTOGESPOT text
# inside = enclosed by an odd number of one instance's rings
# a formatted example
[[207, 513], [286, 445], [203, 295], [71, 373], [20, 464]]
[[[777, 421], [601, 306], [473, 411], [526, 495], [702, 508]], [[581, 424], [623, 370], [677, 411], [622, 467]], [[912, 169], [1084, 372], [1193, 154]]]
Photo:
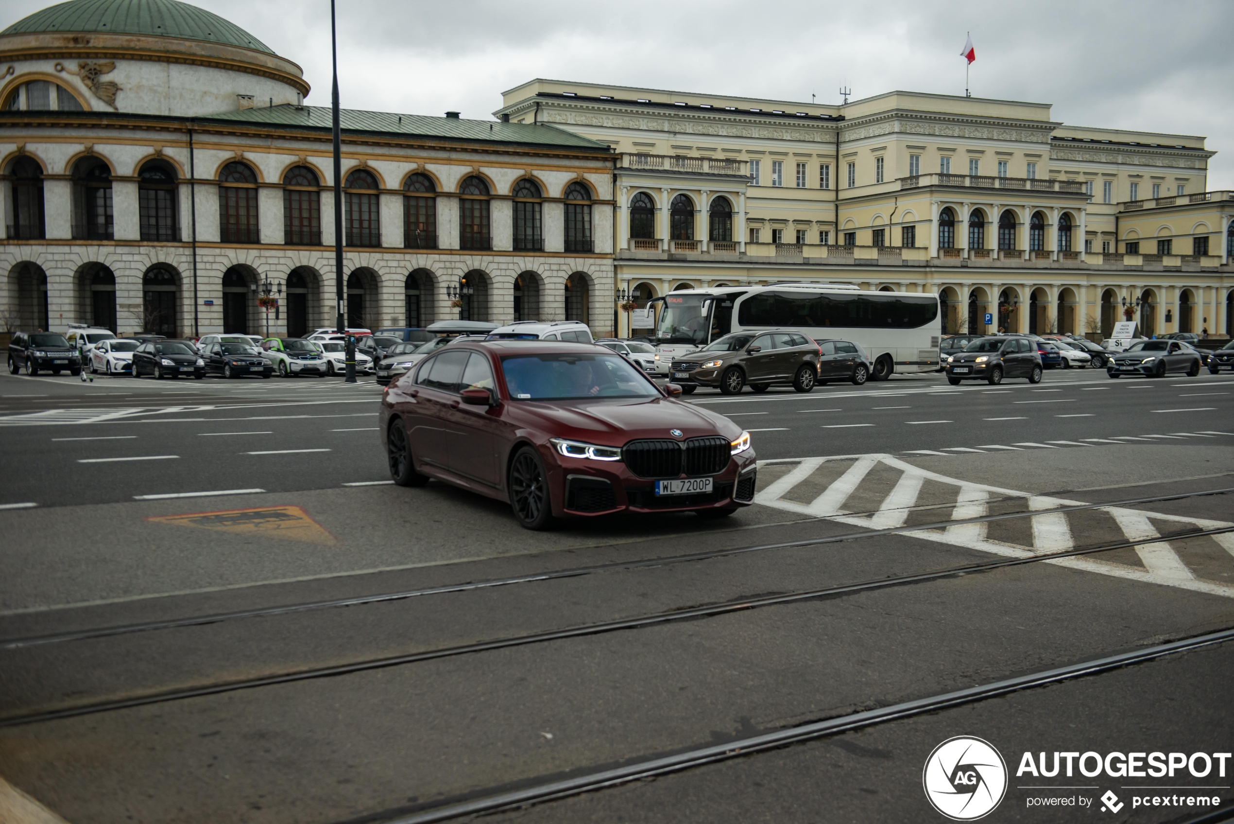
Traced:
[[1007, 762], [988, 741], [958, 735], [926, 759], [922, 786], [939, 813], [972, 822], [992, 813], [1007, 794]]

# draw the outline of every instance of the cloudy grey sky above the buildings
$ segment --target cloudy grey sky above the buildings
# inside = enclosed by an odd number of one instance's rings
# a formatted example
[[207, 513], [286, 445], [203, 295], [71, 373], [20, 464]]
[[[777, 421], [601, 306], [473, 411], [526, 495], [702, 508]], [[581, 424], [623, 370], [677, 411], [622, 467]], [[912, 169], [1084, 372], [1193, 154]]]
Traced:
[[[0, 0], [2, 26], [44, 0]], [[329, 105], [328, 0], [196, 0], [304, 67]], [[1054, 105], [1082, 126], [1202, 135], [1208, 188], [1234, 188], [1230, 0], [341, 0], [346, 107], [487, 119], [536, 77], [837, 103], [893, 89]]]

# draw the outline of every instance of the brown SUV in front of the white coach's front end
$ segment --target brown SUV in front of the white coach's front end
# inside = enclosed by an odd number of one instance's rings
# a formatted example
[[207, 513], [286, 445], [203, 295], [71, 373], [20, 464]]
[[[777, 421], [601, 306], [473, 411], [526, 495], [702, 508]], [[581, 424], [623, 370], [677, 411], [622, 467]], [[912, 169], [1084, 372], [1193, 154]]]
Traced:
[[686, 394], [712, 387], [735, 395], [745, 384], [766, 392], [775, 383], [811, 392], [818, 383], [821, 351], [818, 343], [797, 332], [733, 332], [677, 356], [669, 374]]

